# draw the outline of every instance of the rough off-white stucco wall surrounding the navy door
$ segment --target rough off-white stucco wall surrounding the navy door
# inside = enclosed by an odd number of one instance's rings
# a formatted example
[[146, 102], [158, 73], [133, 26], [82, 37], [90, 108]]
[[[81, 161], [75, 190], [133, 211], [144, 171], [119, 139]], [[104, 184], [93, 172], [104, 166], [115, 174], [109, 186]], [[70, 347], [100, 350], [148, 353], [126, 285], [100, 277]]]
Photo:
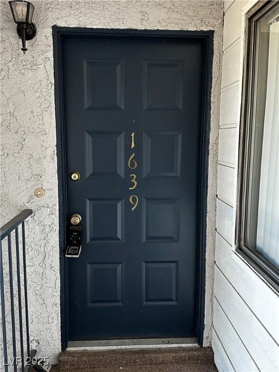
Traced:
[[[1, 222], [33, 209], [27, 227], [31, 338], [41, 355], [61, 349], [59, 225], [52, 25], [92, 28], [214, 30], [214, 69], [208, 180], [205, 344], [211, 342], [217, 134], [223, 1], [32, 1], [37, 36], [24, 56], [8, 1], [1, 12]], [[37, 199], [34, 189], [46, 195]]]

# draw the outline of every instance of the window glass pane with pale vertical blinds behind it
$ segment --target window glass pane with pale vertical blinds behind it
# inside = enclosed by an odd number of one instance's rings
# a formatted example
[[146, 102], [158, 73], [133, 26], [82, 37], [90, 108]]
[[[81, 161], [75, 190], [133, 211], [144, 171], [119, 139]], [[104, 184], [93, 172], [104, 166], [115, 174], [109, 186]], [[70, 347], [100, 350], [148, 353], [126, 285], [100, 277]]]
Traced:
[[279, 4], [252, 34], [244, 240], [279, 268]]

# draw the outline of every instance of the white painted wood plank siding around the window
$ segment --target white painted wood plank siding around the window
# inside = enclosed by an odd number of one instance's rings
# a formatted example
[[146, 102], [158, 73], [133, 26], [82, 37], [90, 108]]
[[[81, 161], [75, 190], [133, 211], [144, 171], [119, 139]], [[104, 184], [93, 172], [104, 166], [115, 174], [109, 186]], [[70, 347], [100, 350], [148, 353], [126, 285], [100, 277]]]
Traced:
[[234, 246], [244, 15], [254, 3], [224, 1], [212, 347], [226, 372], [279, 372], [279, 294]]

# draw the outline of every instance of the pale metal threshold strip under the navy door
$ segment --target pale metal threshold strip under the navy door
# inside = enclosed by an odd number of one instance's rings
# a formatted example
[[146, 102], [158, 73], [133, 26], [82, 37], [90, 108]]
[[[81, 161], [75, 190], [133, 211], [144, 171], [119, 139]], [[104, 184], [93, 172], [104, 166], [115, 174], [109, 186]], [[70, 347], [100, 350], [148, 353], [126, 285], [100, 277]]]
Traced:
[[101, 350], [123, 350], [123, 349], [161, 349], [198, 347], [197, 339], [194, 337], [169, 338], [169, 339], [125, 339], [125, 340], [86, 340], [69, 341], [67, 351], [101, 351]]

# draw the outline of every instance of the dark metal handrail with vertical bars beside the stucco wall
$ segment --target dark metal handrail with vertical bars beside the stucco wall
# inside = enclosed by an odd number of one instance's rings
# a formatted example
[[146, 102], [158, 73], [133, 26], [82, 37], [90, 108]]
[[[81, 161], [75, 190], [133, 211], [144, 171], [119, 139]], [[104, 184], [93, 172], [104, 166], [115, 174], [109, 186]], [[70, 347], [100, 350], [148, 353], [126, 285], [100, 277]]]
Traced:
[[[22, 372], [29, 371], [31, 366], [25, 367], [24, 343], [23, 343], [23, 322], [22, 322], [22, 301], [21, 301], [21, 280], [20, 280], [20, 257], [19, 257], [19, 235], [18, 227], [21, 225], [22, 231], [22, 258], [23, 258], [23, 277], [24, 277], [24, 296], [25, 296], [25, 320], [26, 320], [26, 340], [27, 355], [31, 357], [30, 339], [29, 339], [29, 317], [28, 317], [28, 298], [27, 298], [27, 274], [26, 274], [26, 248], [25, 248], [25, 220], [31, 216], [32, 210], [25, 209], [16, 217], [0, 228], [0, 292], [1, 292], [1, 315], [2, 315], [2, 336], [3, 336], [3, 354], [4, 370], [8, 372], [8, 354], [7, 354], [7, 334], [6, 334], [6, 312], [5, 312], [5, 294], [4, 294], [4, 275], [3, 275], [3, 257], [2, 241], [7, 237], [8, 240], [8, 258], [9, 258], [9, 277], [10, 277], [10, 301], [11, 301], [11, 318], [12, 318], [12, 336], [13, 336], [13, 354], [14, 361], [16, 357], [16, 324], [15, 324], [15, 303], [14, 303], [14, 279], [13, 279], [13, 255], [11, 233], [15, 231], [16, 238], [16, 274], [17, 274], [17, 297], [18, 297], [18, 316], [19, 316], [19, 336], [20, 336], [20, 354]], [[17, 371], [14, 363], [14, 371]]]

